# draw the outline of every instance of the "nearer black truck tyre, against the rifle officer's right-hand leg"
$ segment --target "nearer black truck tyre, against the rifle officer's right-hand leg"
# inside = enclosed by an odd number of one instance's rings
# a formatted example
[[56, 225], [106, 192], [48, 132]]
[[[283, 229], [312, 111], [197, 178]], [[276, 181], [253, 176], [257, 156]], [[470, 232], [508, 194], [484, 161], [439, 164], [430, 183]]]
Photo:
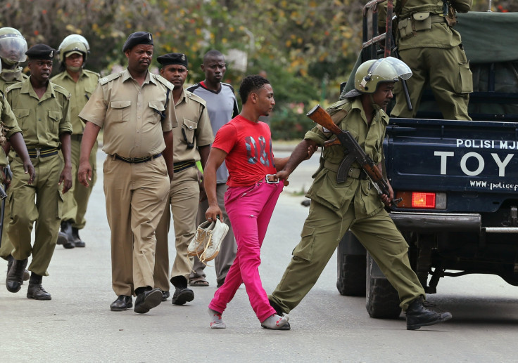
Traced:
[[367, 253], [367, 312], [378, 319], [397, 319], [401, 314], [398, 291]]

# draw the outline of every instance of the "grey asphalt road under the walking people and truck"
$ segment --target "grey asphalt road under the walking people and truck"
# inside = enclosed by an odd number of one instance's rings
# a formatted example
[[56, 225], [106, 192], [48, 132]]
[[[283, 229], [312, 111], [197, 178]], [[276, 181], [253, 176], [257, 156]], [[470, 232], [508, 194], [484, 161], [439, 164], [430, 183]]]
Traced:
[[[277, 156], [285, 153], [276, 152]], [[99, 171], [104, 159], [99, 152]], [[263, 245], [260, 273], [274, 289], [298, 243], [308, 209], [301, 190], [310, 186], [318, 155], [291, 176]], [[215, 292], [194, 288], [184, 306], [170, 299], [146, 315], [110, 312], [110, 231], [102, 173], [94, 187], [81, 235], [84, 249], [57, 246], [44, 278], [51, 301], [0, 288], [0, 362], [517, 362], [518, 289], [500, 277], [446, 278], [429, 300], [449, 310], [445, 324], [405, 330], [405, 317], [372, 319], [365, 298], [340, 296], [336, 256], [315, 287], [290, 314], [291, 331], [262, 329], [244, 286], [224, 314], [227, 329], [212, 330], [207, 305]], [[294, 194], [293, 194], [294, 193]], [[174, 231], [170, 233], [174, 238]], [[171, 260], [175, 252], [170, 251]], [[3, 267], [1, 267], [3, 266]], [[6, 265], [0, 261], [0, 281]]]

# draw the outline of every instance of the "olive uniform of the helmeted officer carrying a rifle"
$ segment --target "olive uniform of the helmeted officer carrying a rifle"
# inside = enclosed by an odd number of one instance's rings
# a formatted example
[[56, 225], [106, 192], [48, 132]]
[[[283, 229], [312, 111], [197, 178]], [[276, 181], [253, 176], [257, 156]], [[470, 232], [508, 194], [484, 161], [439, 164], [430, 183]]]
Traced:
[[[339, 119], [337, 125], [350, 131], [376, 164], [381, 162], [388, 116], [383, 111], [377, 112], [369, 126], [360, 98], [340, 101], [331, 105], [328, 112], [337, 114], [342, 108], [347, 111], [347, 116]], [[322, 146], [331, 136], [331, 133], [323, 133], [315, 127], [306, 133], [305, 139]], [[293, 249], [293, 258], [270, 297], [284, 312], [295, 308], [317, 282], [348, 229], [358, 237], [398, 291], [403, 310], [410, 301], [424, 296], [424, 289], [410, 268], [408, 244], [384, 210], [371, 182], [349, 176], [346, 182], [336, 183], [336, 171], [343, 157], [340, 146], [324, 150], [323, 164], [315, 173], [315, 180], [306, 195], [311, 204], [301, 232], [301, 242]], [[360, 166], [355, 163], [353, 167]]]

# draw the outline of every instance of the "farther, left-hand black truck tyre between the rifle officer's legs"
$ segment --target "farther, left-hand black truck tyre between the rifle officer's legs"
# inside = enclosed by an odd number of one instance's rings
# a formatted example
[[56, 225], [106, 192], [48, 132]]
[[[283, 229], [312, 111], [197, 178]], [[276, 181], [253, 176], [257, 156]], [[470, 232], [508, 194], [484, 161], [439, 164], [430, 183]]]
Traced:
[[365, 296], [365, 255], [339, 253], [336, 289], [343, 296]]

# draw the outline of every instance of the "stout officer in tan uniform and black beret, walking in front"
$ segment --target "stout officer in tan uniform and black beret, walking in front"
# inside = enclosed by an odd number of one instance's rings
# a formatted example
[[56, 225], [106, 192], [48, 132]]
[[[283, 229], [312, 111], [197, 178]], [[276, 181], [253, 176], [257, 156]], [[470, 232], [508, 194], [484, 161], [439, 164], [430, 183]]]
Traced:
[[104, 129], [104, 194], [111, 230], [112, 286], [118, 298], [110, 310], [148, 312], [162, 301], [153, 279], [155, 230], [173, 177], [172, 128], [177, 126], [173, 85], [148, 68], [153, 37], [136, 32], [122, 51], [127, 70], [99, 81], [80, 112], [86, 123], [78, 178], [88, 187], [91, 148]]

